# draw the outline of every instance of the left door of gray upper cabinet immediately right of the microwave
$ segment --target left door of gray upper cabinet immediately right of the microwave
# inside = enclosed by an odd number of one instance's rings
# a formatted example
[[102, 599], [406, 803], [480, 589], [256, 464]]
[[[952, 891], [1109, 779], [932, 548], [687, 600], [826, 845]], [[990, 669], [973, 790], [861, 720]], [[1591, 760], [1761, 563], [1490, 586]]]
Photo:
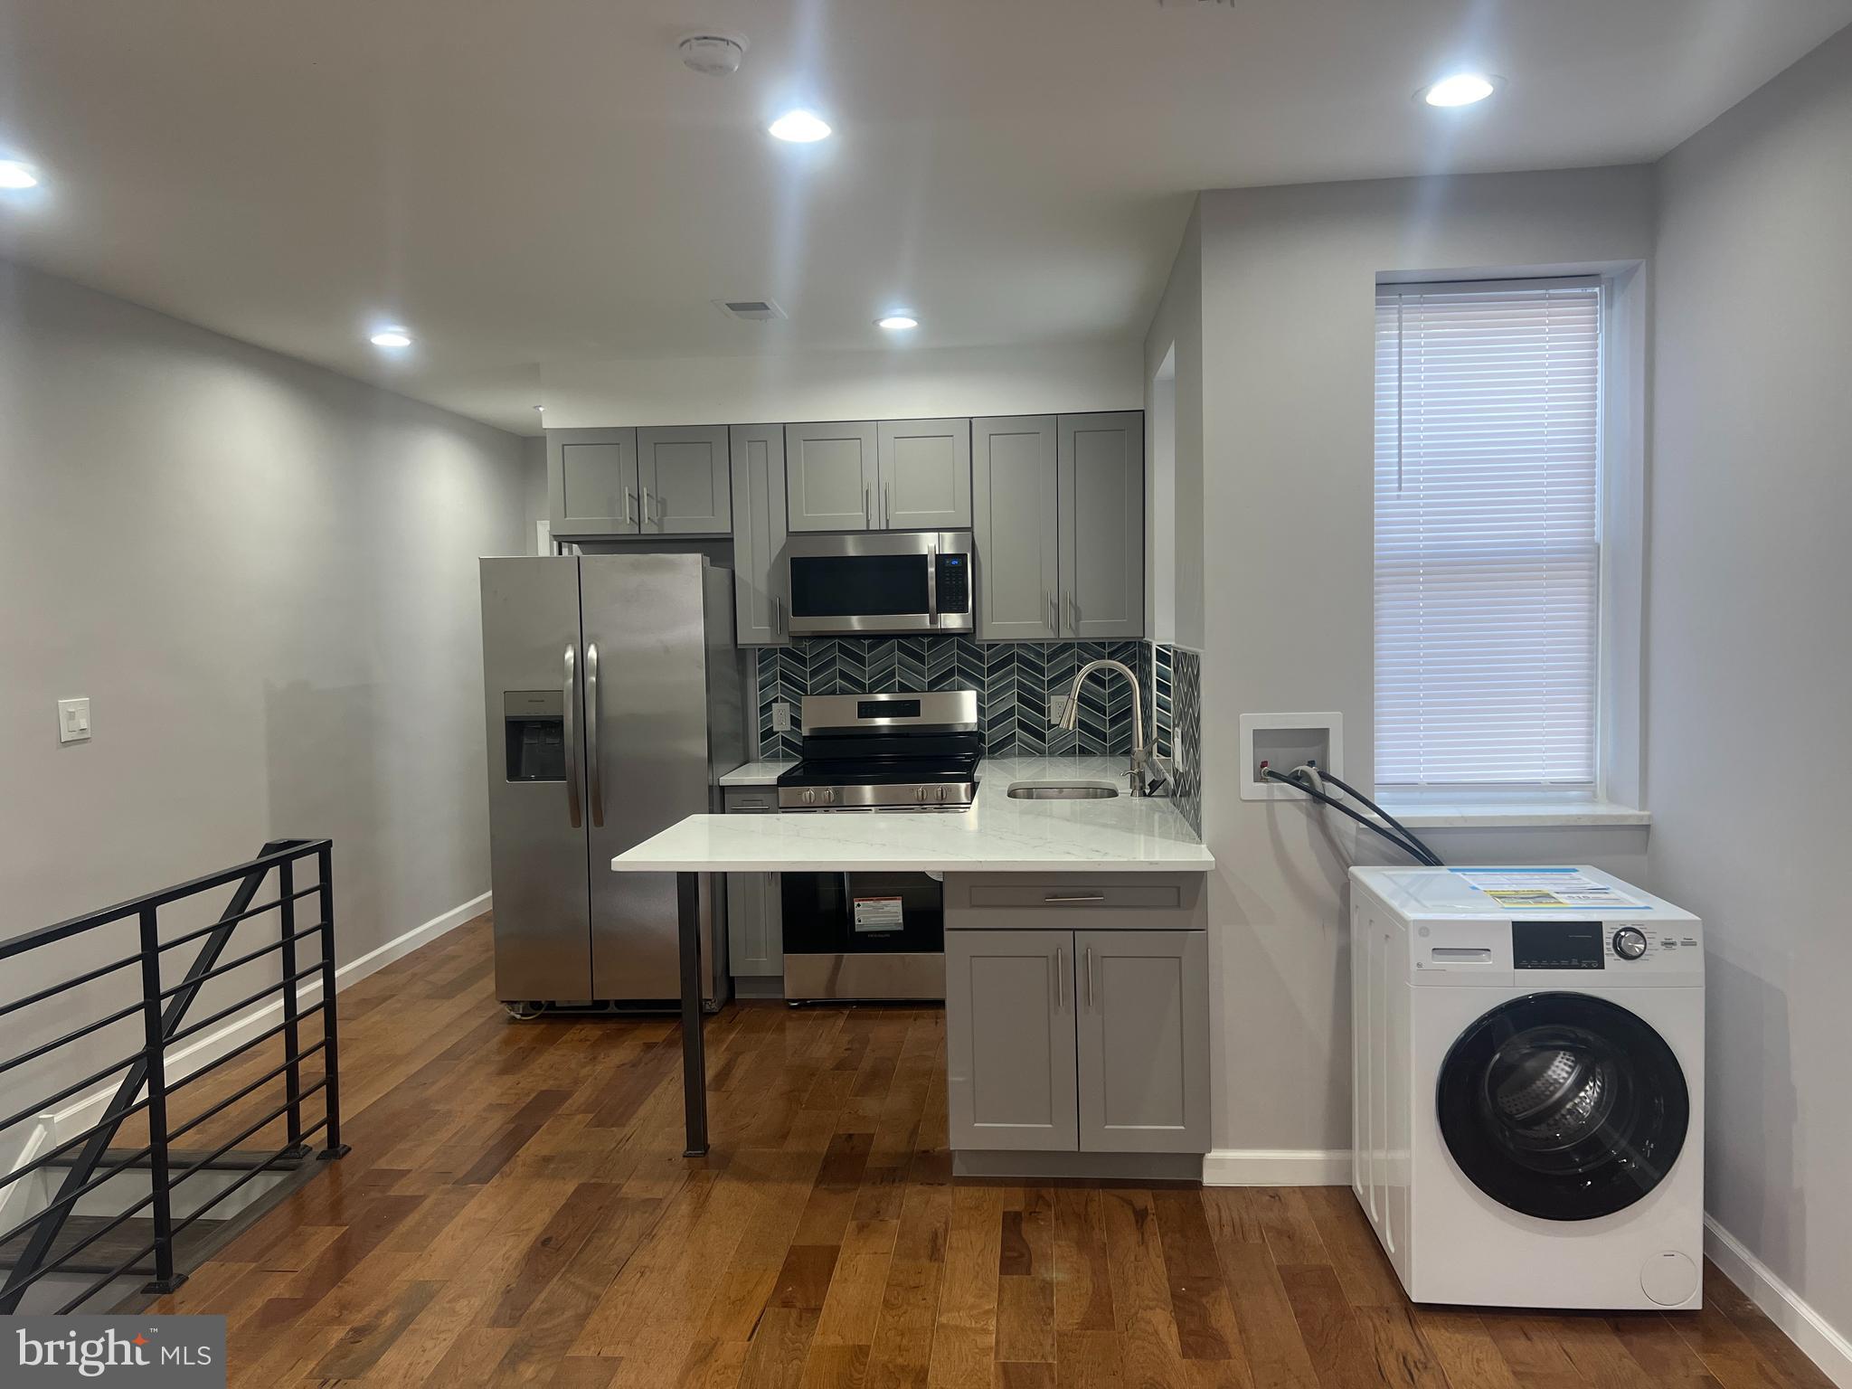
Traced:
[[1061, 635], [1056, 419], [972, 420], [970, 454], [978, 637], [1052, 641]]

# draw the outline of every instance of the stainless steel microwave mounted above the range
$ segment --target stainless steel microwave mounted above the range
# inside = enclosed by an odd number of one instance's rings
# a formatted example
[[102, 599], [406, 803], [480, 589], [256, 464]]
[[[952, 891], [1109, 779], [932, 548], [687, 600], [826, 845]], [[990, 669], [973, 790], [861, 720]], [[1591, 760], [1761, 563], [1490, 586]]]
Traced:
[[970, 532], [793, 535], [791, 635], [972, 632]]

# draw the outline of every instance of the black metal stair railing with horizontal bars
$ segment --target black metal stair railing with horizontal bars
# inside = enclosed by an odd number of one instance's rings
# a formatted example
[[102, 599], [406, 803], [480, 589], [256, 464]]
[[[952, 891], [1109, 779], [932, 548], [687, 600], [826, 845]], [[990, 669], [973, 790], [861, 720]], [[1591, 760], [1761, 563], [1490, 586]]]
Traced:
[[[296, 869], [309, 859], [315, 861], [317, 880], [307, 887], [296, 887]], [[20, 1072], [33, 1061], [52, 1057], [54, 1052], [80, 1043], [85, 1037], [104, 1033], [111, 1026], [133, 1026], [137, 1017], [141, 1022], [141, 1045], [130, 1056], [115, 1059], [109, 1065], [85, 1074], [81, 1080], [63, 1083], [50, 1095], [41, 1095], [24, 1107], [15, 1107], [11, 1100], [4, 1106], [11, 1109], [11, 1113], [0, 1115], [0, 1141], [4, 1141], [9, 1132], [46, 1113], [57, 1104], [81, 1096], [93, 1087], [107, 1083], [111, 1076], [120, 1072], [120, 1082], [117, 1083], [115, 1095], [106, 1106], [102, 1119], [81, 1132], [61, 1139], [48, 1152], [30, 1156], [30, 1161], [19, 1163], [11, 1172], [0, 1172], [0, 1209], [4, 1209], [7, 1204], [4, 1198], [9, 1187], [33, 1176], [35, 1172], [43, 1170], [50, 1176], [54, 1170], [63, 1169], [63, 1180], [57, 1185], [56, 1196], [39, 1206], [39, 1209], [31, 1211], [31, 1215], [24, 1220], [15, 1222], [9, 1230], [0, 1230], [0, 1250], [11, 1246], [11, 1254], [6, 1259], [11, 1263], [11, 1269], [6, 1272], [4, 1285], [0, 1285], [0, 1315], [17, 1311], [20, 1298], [28, 1293], [28, 1289], [52, 1274], [65, 1274], [67, 1278], [74, 1274], [100, 1274], [63, 1306], [56, 1308], [59, 1313], [81, 1308], [87, 1300], [109, 1287], [117, 1278], [139, 1276], [143, 1272], [152, 1274], [152, 1280], [143, 1291], [169, 1293], [185, 1282], [185, 1274], [176, 1269], [176, 1237], [206, 1217], [207, 1211], [265, 1172], [302, 1163], [311, 1152], [307, 1139], [315, 1135], [322, 1135], [322, 1150], [317, 1154], [319, 1158], [339, 1158], [346, 1152], [346, 1146], [341, 1143], [341, 1072], [337, 1039], [339, 1028], [335, 1020], [333, 948], [335, 904], [332, 869], [332, 841], [276, 839], [267, 843], [257, 857], [248, 863], [239, 863], [220, 872], [161, 889], [159, 893], [148, 893], [128, 902], [119, 902], [117, 906], [104, 907], [102, 911], [72, 917], [70, 920], [46, 926], [39, 932], [28, 932], [24, 935], [0, 941], [0, 1022], [35, 1004], [61, 998], [72, 989], [96, 983], [119, 972], [126, 974], [131, 969], [137, 970], [137, 974], [126, 978], [131, 980], [131, 989], [139, 995], [135, 1002], [113, 1007], [102, 1017], [91, 1019], [83, 1026], [22, 1050], [19, 1056], [0, 1057], [0, 1080], [4, 1080], [9, 1072]], [[276, 898], [254, 906], [265, 880], [272, 874], [278, 883]], [[213, 924], [189, 930], [169, 941], [161, 939], [159, 913], [163, 907], [170, 907], [178, 902], [196, 898], [202, 893], [213, 893], [233, 883], [237, 889], [233, 891], [226, 909]], [[315, 900], [319, 920], [298, 930], [296, 904], [304, 898]], [[230, 946], [237, 928], [244, 922], [256, 922], [270, 913], [276, 913], [278, 922], [274, 939], [228, 959], [226, 948]], [[130, 920], [133, 920], [137, 933], [137, 948], [133, 952], [85, 969], [70, 978], [57, 980], [56, 983], [35, 989], [20, 998], [6, 996], [9, 991], [6, 982], [26, 976], [26, 965], [31, 963], [35, 952], [43, 952], [69, 941], [100, 941], [106, 928], [120, 928], [120, 924]], [[246, 932], [246, 935], [248, 933], [250, 932]], [[298, 945], [311, 939], [319, 946], [319, 959], [306, 967], [298, 967]], [[183, 978], [178, 983], [163, 985], [161, 965], [165, 952], [193, 941], [198, 941], [200, 946], [189, 961]], [[233, 970], [244, 969], [246, 965], [272, 954], [278, 956], [280, 961], [274, 982], [265, 983], [261, 989], [244, 998], [217, 1007], [207, 1017], [189, 1020], [189, 1009], [211, 980], [232, 974]], [[43, 959], [43, 956], [39, 957]], [[300, 991], [307, 982], [319, 982], [320, 993], [313, 1004], [302, 1006]], [[120, 985], [120, 980], [115, 983]], [[174, 1046], [196, 1039], [207, 1028], [230, 1022], [254, 1004], [272, 995], [282, 996], [282, 1022], [261, 1030], [254, 1037], [246, 1037], [237, 1046], [209, 1059], [206, 1065], [189, 1069], [187, 1074], [180, 1078], [169, 1076], [169, 1057]], [[302, 1024], [313, 1013], [320, 1013], [320, 1037], [304, 1046]], [[219, 1098], [215, 1104], [189, 1117], [185, 1122], [176, 1124], [172, 1120], [169, 1113], [169, 1100], [178, 1091], [196, 1085], [207, 1076], [232, 1074], [230, 1067], [233, 1061], [278, 1037], [282, 1039], [283, 1050], [282, 1063], [263, 1070], [263, 1074], [256, 1076], [248, 1083], [243, 1083], [232, 1095]], [[304, 1061], [315, 1054], [320, 1054], [320, 1074], [306, 1085]], [[233, 1078], [243, 1080], [243, 1076]], [[232, 1139], [204, 1154], [180, 1154], [180, 1150], [176, 1150], [174, 1139], [196, 1130], [209, 1119], [224, 1115], [232, 1109], [232, 1106], [250, 1098], [276, 1080], [283, 1082], [282, 1104], [267, 1109], [263, 1115], [256, 1117], [254, 1122], [244, 1124]], [[7, 1091], [9, 1087], [0, 1087], [0, 1093]], [[322, 1115], [313, 1122], [304, 1122], [304, 1102], [315, 1093], [322, 1095]], [[124, 1120], [133, 1115], [144, 1115], [148, 1141], [139, 1148], [131, 1146], [113, 1150], [111, 1143], [122, 1130]], [[243, 1119], [243, 1115], [235, 1115], [230, 1122], [237, 1122], [239, 1119]], [[239, 1148], [241, 1143], [246, 1143], [278, 1120], [283, 1120], [285, 1124], [287, 1141], [282, 1146], [259, 1150]], [[72, 1154], [72, 1150], [76, 1152]], [[148, 1172], [146, 1196], [109, 1219], [96, 1220], [94, 1217], [85, 1217], [81, 1224], [83, 1237], [61, 1241], [61, 1235], [65, 1235], [67, 1230], [78, 1230], [72, 1217], [83, 1196], [102, 1189], [109, 1182], [119, 1180], [124, 1172], [141, 1170]], [[174, 1187], [204, 1170], [237, 1170], [243, 1174], [233, 1182], [228, 1182], [215, 1195], [196, 1202], [187, 1215], [174, 1219]], [[80, 1259], [80, 1256], [93, 1246], [106, 1248], [98, 1245], [98, 1241], [104, 1241], [106, 1235], [122, 1230], [128, 1222], [139, 1220], [146, 1224], [150, 1219], [152, 1233], [146, 1243], [135, 1248], [135, 1252], [128, 1258], [119, 1258], [115, 1263], [107, 1263], [102, 1269], [94, 1267], [94, 1259], [91, 1263], [83, 1263]]]

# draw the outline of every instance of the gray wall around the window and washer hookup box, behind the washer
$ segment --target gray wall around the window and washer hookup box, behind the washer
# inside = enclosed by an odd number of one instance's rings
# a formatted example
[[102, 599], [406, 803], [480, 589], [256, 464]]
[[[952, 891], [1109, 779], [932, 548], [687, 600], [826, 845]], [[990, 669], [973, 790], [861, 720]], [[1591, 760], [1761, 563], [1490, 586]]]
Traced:
[[[1200, 219], [1215, 1145], [1337, 1150], [1350, 1143], [1345, 867], [1352, 852], [1382, 859], [1300, 802], [1239, 800], [1237, 717], [1341, 711], [1345, 774], [1369, 785], [1376, 274], [1645, 259], [1652, 174], [1224, 191], [1202, 196]], [[1437, 846], [1645, 870], [1639, 830], [1458, 832]]]

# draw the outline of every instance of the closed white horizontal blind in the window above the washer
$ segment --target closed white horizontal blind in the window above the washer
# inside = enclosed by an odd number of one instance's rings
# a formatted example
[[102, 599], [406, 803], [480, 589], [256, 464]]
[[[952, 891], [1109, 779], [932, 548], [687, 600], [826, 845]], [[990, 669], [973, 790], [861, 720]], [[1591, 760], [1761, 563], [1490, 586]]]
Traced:
[[1593, 789], [1600, 293], [1378, 289], [1378, 787]]

